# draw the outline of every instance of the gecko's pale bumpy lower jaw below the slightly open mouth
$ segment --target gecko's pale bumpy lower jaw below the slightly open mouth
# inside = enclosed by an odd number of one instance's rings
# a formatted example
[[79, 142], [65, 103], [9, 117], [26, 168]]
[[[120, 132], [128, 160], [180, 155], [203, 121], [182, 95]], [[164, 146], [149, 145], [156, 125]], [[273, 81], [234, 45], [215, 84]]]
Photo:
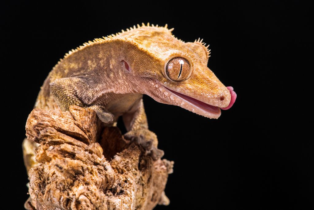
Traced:
[[166, 96], [168, 99], [168, 103], [172, 105], [181, 106], [184, 109], [192, 111], [198, 115], [202, 115], [208, 118], [217, 119], [221, 115], [220, 108], [217, 106], [213, 106], [197, 99], [194, 99], [190, 96], [178, 93], [174, 90], [166, 88], [160, 82], [156, 84], [156, 88]]

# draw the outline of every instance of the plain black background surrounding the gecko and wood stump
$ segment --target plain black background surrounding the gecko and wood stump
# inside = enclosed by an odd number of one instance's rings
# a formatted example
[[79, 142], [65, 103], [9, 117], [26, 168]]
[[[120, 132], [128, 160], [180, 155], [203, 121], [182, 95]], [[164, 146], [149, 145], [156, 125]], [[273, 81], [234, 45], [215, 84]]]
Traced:
[[[264, 1], [263, 1], [264, 2]], [[42, 2], [44, 3], [44, 2]], [[208, 66], [237, 93], [218, 120], [144, 96], [149, 128], [173, 160], [155, 209], [313, 209], [311, 4], [147, 2], [11, 3], [2, 7], [3, 174], [7, 196], [28, 195], [21, 143], [40, 87], [68, 50], [142, 22], [210, 44]], [[5, 14], [6, 13], [6, 14]], [[309, 122], [308, 122], [309, 120]], [[118, 126], [123, 129], [121, 121]], [[12, 129], [12, 130], [11, 130]], [[6, 180], [6, 179], [2, 179]]]

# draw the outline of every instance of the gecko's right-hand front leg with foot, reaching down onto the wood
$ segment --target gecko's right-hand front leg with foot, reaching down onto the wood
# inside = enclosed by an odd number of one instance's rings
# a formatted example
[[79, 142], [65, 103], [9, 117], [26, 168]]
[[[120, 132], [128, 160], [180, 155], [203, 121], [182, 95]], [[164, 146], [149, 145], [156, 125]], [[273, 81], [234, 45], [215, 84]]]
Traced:
[[138, 99], [131, 110], [125, 113], [122, 118], [128, 131], [124, 134], [126, 139], [135, 140], [143, 147], [146, 154], [151, 154], [154, 160], [164, 155], [163, 150], [157, 149], [158, 140], [156, 134], [148, 129], [142, 98]]

